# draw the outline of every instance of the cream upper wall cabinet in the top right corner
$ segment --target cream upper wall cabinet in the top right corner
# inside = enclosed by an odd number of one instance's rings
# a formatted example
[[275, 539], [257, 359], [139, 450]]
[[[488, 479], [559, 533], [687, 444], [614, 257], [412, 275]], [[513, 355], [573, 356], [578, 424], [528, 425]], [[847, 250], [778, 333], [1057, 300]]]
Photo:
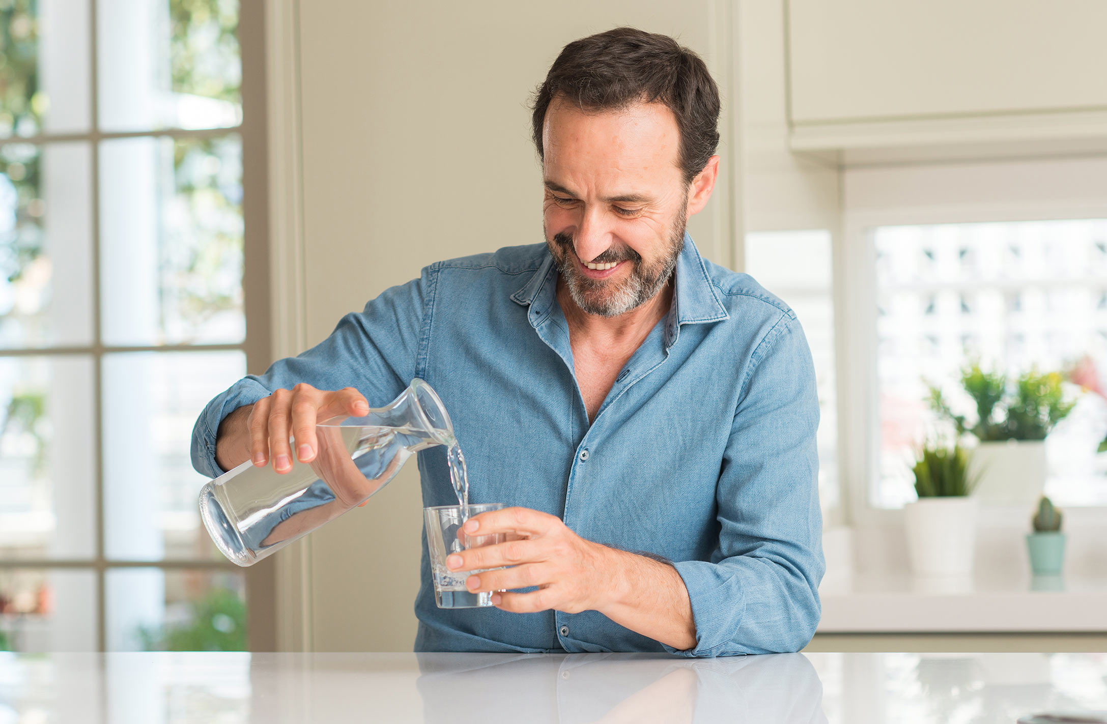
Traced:
[[1103, 0], [792, 0], [788, 13], [800, 145], [1107, 134]]

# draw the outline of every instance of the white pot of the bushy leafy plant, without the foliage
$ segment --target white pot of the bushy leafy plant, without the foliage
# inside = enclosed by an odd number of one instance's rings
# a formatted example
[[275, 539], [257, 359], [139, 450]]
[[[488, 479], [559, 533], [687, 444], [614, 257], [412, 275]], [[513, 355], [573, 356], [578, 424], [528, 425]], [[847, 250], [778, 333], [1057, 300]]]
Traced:
[[981, 443], [969, 459], [969, 474], [980, 476], [973, 495], [985, 503], [1034, 505], [1045, 489], [1045, 441]]

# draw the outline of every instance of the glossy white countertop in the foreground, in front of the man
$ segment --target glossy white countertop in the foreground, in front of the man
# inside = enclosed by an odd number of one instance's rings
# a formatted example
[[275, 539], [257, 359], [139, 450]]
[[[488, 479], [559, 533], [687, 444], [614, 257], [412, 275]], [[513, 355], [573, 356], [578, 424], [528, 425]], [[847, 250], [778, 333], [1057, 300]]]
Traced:
[[1107, 711], [1107, 654], [0, 654], [0, 722], [1003, 722]]

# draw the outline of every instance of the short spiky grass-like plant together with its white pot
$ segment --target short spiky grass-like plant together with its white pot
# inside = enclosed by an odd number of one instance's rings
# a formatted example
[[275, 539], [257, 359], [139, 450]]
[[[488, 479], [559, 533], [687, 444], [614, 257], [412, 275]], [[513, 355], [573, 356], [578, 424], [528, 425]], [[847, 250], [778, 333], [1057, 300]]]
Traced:
[[914, 492], [903, 507], [908, 555], [919, 576], [966, 576], [976, 542], [974, 478], [963, 447], [923, 445], [915, 458]]

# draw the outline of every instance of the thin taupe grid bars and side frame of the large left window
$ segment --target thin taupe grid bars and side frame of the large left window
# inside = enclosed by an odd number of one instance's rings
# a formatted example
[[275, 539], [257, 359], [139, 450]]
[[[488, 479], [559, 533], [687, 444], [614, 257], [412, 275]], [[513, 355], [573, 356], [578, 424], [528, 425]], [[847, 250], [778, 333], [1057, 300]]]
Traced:
[[[184, 130], [178, 127], [156, 128], [146, 131], [104, 132], [100, 127], [99, 117], [99, 74], [97, 74], [97, 6], [107, 0], [79, 0], [86, 4], [89, 13], [89, 62], [83, 71], [89, 89], [89, 125], [85, 131], [73, 133], [42, 133], [34, 136], [17, 136], [0, 138], [0, 145], [31, 144], [45, 147], [55, 143], [81, 142], [90, 149], [90, 194], [91, 216], [90, 244], [92, 268], [91, 304], [92, 304], [92, 341], [89, 344], [42, 347], [21, 347], [0, 349], [0, 358], [66, 358], [79, 355], [90, 360], [93, 374], [93, 455], [95, 470], [93, 475], [94, 509], [94, 548], [90, 558], [0, 558], [0, 570], [72, 570], [90, 571], [95, 576], [94, 600], [87, 604], [95, 608], [95, 647], [97, 651], [107, 650], [107, 600], [106, 577], [115, 570], [159, 569], [229, 571], [244, 575], [246, 582], [246, 600], [248, 607], [248, 648], [251, 651], [272, 651], [277, 645], [276, 604], [273, 602], [276, 568], [265, 563], [241, 569], [234, 563], [213, 558], [131, 560], [110, 558], [104, 550], [104, 443], [103, 443], [103, 374], [102, 361], [105, 355], [118, 352], [204, 352], [204, 351], [240, 351], [246, 354], [249, 370], [265, 370], [272, 360], [270, 339], [270, 299], [269, 299], [269, 252], [268, 252], [268, 139], [267, 139], [267, 77], [266, 77], [266, 6], [262, 0], [239, 0], [238, 41], [242, 62], [242, 121], [237, 126], [219, 128]], [[244, 314], [246, 316], [246, 338], [241, 342], [226, 344], [142, 344], [142, 345], [107, 345], [101, 341], [101, 272], [100, 272], [100, 149], [101, 142], [117, 138], [213, 138], [238, 135], [242, 143], [242, 215], [244, 215]], [[185, 442], [187, 444], [187, 441]], [[201, 534], [204, 535], [204, 534]]]

